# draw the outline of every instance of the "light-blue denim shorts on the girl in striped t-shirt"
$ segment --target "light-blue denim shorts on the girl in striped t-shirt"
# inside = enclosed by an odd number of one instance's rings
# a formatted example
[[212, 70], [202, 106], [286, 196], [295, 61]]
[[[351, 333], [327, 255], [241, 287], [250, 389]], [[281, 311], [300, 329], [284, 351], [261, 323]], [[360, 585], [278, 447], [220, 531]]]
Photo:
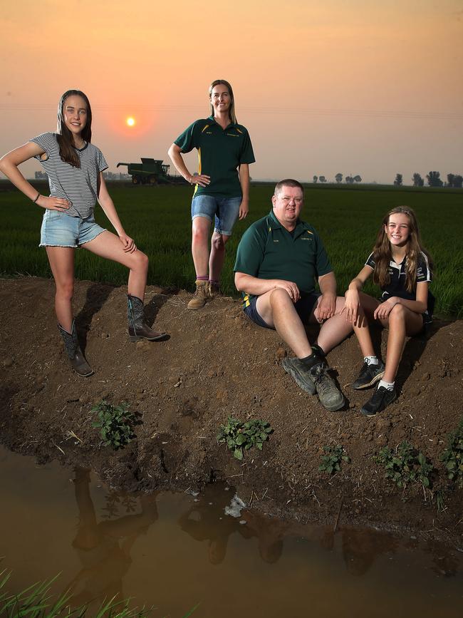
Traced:
[[47, 209], [43, 214], [40, 230], [39, 247], [79, 247], [80, 244], [90, 242], [104, 227], [95, 223], [95, 217], [90, 215], [86, 219], [70, 217], [66, 212]]

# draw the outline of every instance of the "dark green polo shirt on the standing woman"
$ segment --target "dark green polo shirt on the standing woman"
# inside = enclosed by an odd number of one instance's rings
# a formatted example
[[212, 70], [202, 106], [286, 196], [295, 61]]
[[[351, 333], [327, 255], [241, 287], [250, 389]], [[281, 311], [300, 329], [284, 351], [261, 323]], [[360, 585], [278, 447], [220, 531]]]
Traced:
[[189, 153], [196, 148], [199, 174], [211, 177], [207, 187], [196, 185], [194, 195], [241, 197], [238, 167], [241, 163], [255, 161], [249, 133], [243, 125], [231, 123], [222, 129], [209, 116], [204, 120], [195, 120], [179, 135], [175, 144], [182, 153]]

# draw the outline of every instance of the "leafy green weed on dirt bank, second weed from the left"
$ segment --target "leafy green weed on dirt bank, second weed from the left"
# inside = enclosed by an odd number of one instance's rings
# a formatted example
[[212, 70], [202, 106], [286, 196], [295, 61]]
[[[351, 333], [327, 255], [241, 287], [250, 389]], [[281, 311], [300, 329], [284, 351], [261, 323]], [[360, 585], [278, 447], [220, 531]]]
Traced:
[[253, 446], [262, 450], [262, 445], [269, 439], [272, 431], [274, 430], [267, 421], [255, 419], [242, 423], [229, 416], [227, 424], [220, 426], [217, 442], [227, 443], [228, 448], [233, 450], [233, 456], [242, 460], [244, 450], [249, 450]]

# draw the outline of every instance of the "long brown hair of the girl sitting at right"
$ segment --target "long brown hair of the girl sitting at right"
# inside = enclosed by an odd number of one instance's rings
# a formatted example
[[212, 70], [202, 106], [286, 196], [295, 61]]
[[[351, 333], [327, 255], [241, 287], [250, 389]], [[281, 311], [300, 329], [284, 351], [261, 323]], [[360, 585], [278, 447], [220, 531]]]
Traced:
[[397, 206], [392, 208], [383, 219], [381, 229], [376, 238], [375, 247], [373, 247], [373, 259], [375, 260], [375, 270], [373, 272], [373, 281], [380, 287], [385, 287], [390, 284], [389, 264], [392, 259], [390, 242], [387, 238], [386, 227], [389, 225], [389, 217], [402, 213], [408, 217], [409, 236], [407, 240], [407, 264], [406, 264], [406, 282], [405, 287], [408, 292], [413, 292], [416, 287], [418, 257], [420, 252], [423, 252], [428, 259], [430, 269], [432, 269], [432, 259], [430, 254], [422, 246], [420, 230], [415, 212], [407, 206]]

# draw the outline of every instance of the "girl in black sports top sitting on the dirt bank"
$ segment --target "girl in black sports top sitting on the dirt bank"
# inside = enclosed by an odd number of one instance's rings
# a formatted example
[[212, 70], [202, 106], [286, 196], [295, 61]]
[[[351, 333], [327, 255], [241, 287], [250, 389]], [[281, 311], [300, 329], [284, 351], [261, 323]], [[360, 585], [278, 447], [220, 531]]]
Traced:
[[[363, 367], [353, 383], [361, 389], [379, 382], [375, 393], [362, 408], [375, 416], [397, 398], [395, 374], [406, 336], [420, 333], [431, 320], [434, 297], [429, 291], [432, 262], [422, 247], [415, 213], [411, 208], [393, 208], [383, 219], [373, 252], [345, 292], [345, 316], [352, 322], [363, 354]], [[383, 290], [378, 301], [360, 292], [373, 274]], [[389, 329], [386, 363], [373, 349], [368, 320], [380, 321]]]

